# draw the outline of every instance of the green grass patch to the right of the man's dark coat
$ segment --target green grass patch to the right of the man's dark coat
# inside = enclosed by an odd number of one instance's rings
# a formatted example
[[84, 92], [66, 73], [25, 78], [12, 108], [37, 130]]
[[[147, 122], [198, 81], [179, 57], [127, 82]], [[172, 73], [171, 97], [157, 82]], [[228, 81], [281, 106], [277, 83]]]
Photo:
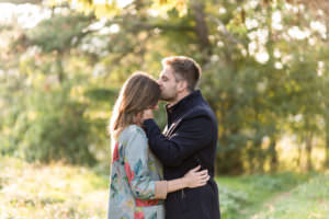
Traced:
[[329, 219], [329, 173], [219, 177], [224, 219]]

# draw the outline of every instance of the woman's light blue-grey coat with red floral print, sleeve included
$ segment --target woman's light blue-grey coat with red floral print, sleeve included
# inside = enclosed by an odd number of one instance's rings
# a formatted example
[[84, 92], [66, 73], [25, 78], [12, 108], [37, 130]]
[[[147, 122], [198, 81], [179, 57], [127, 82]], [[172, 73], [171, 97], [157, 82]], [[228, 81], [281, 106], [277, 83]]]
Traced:
[[162, 169], [139, 126], [121, 132], [112, 159], [109, 219], [163, 219], [163, 201], [154, 199]]

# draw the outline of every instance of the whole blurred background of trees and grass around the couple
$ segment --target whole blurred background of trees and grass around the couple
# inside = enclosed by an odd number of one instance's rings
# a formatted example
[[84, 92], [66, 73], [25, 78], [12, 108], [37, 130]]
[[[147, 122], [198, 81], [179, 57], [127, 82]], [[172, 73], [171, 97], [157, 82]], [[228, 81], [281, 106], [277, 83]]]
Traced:
[[326, 0], [0, 0], [0, 218], [104, 218], [114, 101], [173, 55], [201, 65], [218, 119], [223, 218], [329, 218], [328, 12]]

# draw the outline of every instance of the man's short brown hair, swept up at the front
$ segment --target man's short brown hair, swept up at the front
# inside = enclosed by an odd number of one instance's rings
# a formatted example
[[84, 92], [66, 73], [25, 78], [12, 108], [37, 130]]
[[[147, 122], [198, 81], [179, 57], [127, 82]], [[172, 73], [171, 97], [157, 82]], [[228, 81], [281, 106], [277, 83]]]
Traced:
[[[162, 60], [162, 66], [169, 66], [175, 73], [175, 80], [188, 81], [188, 89], [194, 91], [201, 78], [201, 68], [192, 58], [185, 56], [171, 56]], [[179, 76], [179, 77], [178, 77]]]

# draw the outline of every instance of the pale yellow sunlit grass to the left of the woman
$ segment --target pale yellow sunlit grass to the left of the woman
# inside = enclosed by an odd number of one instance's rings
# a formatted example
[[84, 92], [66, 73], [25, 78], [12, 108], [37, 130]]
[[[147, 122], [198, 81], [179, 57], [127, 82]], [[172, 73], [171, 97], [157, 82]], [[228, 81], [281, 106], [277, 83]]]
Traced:
[[105, 218], [107, 180], [86, 168], [0, 161], [0, 218]]

